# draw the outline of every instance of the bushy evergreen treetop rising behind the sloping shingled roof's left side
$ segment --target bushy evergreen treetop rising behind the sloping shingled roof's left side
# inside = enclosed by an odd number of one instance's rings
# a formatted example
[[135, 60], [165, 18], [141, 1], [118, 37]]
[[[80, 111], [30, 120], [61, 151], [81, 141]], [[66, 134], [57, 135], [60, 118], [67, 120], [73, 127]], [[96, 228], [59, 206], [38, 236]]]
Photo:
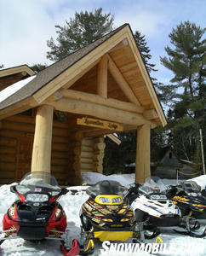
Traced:
[[75, 13], [75, 18], [66, 21], [65, 26], [55, 26], [58, 34], [56, 41], [50, 38], [47, 45], [51, 49], [47, 52], [47, 58], [51, 61], [59, 61], [73, 51], [90, 44], [94, 40], [112, 31], [113, 16], [109, 13], [102, 14], [102, 9], [94, 9], [93, 12], [85, 11]]

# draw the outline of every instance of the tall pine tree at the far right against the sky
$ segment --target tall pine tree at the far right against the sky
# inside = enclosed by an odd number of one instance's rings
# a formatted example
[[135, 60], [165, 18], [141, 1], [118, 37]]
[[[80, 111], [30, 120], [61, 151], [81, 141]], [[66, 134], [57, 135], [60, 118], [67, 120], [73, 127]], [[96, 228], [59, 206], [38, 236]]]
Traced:
[[[199, 128], [205, 134], [205, 28], [186, 21], [169, 34], [174, 48], [165, 47], [169, 57], [162, 57], [164, 67], [174, 73], [171, 84], [162, 86], [171, 99], [169, 125], [170, 143], [175, 154], [186, 160], [197, 159]], [[161, 86], [160, 86], [161, 89]], [[173, 97], [173, 99], [172, 99]], [[169, 100], [169, 99], [168, 99]]]

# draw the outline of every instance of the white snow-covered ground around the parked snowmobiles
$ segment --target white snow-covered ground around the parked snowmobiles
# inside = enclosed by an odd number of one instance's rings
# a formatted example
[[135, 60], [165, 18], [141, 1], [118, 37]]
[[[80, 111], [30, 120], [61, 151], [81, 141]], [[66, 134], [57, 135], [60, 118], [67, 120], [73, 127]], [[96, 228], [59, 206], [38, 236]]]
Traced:
[[[102, 179], [114, 179], [119, 181], [123, 185], [127, 186], [129, 183], [134, 183], [133, 174], [124, 174], [124, 175], [111, 175], [104, 176], [99, 173], [83, 173], [83, 183], [93, 184]], [[202, 188], [206, 184], [206, 175], [201, 177], [196, 177], [194, 180], [201, 185]], [[164, 183], [176, 183], [175, 180], [163, 180]], [[0, 229], [2, 229], [2, 219], [3, 214], [7, 212], [9, 206], [16, 200], [16, 196], [13, 193], [10, 193], [10, 185], [3, 185], [0, 187]], [[71, 188], [72, 189], [72, 188]], [[71, 241], [74, 238], [79, 239], [80, 234], [80, 218], [79, 209], [83, 205], [83, 202], [88, 199], [88, 195], [82, 189], [86, 187], [77, 186], [75, 188], [78, 191], [75, 195], [72, 192], [62, 195], [60, 198], [60, 204], [66, 212], [67, 218], [67, 229], [70, 230]], [[202, 229], [205, 228], [205, 222], [203, 222]], [[163, 242], [173, 248], [173, 251], [169, 251], [169, 254], [158, 254], [158, 255], [206, 255], [206, 245], [204, 238], [192, 238], [189, 236], [182, 236], [176, 234], [171, 229], [164, 229], [164, 232], [160, 235], [163, 239]], [[148, 241], [148, 242], [155, 242]], [[94, 255], [106, 255], [100, 252], [101, 245], [99, 244], [94, 251]], [[194, 251], [195, 248], [195, 251]], [[199, 249], [199, 251], [197, 251]], [[195, 252], [195, 253], [194, 253]], [[24, 241], [23, 239], [14, 239], [9, 241], [4, 241], [1, 245], [0, 255], [3, 256], [59, 256], [60, 252], [60, 242], [59, 241], [43, 241], [39, 244], [32, 243], [30, 241]], [[108, 254], [107, 254], [108, 255]], [[110, 254], [112, 255], [112, 254]], [[117, 253], [114, 255], [117, 256]], [[122, 254], [123, 255], [123, 254]], [[130, 254], [127, 254], [130, 255]], [[134, 255], [134, 254], [131, 254]], [[142, 254], [135, 254], [142, 255]]]

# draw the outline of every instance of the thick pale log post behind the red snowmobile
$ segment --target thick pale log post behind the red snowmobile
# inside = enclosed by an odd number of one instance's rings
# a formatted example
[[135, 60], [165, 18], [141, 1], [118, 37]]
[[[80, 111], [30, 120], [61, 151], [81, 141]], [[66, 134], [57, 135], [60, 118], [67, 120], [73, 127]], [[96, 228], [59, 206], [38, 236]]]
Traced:
[[49, 105], [37, 109], [31, 172], [50, 172], [53, 111]]

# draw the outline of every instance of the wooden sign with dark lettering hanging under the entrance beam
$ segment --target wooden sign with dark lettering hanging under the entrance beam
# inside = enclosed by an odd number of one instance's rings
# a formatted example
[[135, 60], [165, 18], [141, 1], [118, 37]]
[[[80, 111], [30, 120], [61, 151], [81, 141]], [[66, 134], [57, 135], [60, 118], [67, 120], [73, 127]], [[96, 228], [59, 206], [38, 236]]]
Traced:
[[91, 119], [87, 117], [83, 117], [82, 119], [77, 119], [77, 125], [98, 127], [101, 129], [107, 129], [112, 131], [123, 131], [123, 126], [119, 125], [118, 123], [104, 121], [100, 119]]

